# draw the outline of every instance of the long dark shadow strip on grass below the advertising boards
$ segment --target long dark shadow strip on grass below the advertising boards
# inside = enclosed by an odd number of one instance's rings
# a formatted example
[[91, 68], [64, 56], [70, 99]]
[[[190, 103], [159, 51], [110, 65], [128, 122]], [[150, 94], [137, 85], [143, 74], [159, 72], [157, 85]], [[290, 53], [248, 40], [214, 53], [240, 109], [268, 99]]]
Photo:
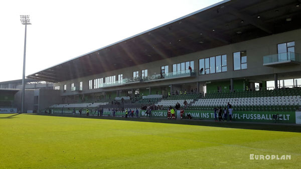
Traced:
[[162, 118], [136, 118], [136, 117], [113, 117], [113, 116], [86, 116], [72, 115], [72, 114], [46, 114], [46, 113], [33, 113], [34, 115], [48, 115], [48, 116], [63, 116], [75, 118], [95, 118], [95, 119], [111, 119], [111, 120], [126, 120], [126, 121], [142, 121], [142, 122], [161, 122], [173, 124], [188, 124], [188, 125], [202, 125], [213, 127], [227, 127], [227, 128], [241, 128], [241, 129], [258, 129], [270, 131], [289, 131], [301, 132], [301, 125], [298, 124], [284, 124], [284, 123], [252, 123], [252, 122], [215, 122], [210, 120], [189, 120], [189, 119], [162, 119]]

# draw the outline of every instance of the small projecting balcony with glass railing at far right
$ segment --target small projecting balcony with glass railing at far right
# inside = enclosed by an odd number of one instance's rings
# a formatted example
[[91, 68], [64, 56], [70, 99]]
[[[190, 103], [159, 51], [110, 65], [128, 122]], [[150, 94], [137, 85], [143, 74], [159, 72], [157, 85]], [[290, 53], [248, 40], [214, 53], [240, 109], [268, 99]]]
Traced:
[[284, 52], [263, 56], [263, 65], [265, 66], [277, 67], [300, 63], [300, 54], [294, 52]]

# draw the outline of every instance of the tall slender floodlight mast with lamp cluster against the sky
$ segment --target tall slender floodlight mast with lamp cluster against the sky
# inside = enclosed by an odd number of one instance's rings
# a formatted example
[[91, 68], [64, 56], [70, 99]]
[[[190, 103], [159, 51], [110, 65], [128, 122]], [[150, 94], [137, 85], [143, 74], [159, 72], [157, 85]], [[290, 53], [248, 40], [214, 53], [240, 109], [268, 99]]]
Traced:
[[26, 56], [26, 30], [27, 25], [31, 24], [29, 15], [20, 15], [20, 20], [22, 24], [25, 24], [25, 40], [24, 40], [24, 57], [23, 57], [23, 78], [22, 78], [22, 107], [21, 107], [21, 113], [24, 112], [24, 100], [25, 100], [25, 56]]

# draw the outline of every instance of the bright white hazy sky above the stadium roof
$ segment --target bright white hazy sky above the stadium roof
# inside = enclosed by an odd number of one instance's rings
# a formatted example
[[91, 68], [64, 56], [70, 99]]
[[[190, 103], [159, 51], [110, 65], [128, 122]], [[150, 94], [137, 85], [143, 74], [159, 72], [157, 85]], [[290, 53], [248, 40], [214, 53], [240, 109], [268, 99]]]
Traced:
[[109, 45], [222, 0], [1, 0], [0, 81]]

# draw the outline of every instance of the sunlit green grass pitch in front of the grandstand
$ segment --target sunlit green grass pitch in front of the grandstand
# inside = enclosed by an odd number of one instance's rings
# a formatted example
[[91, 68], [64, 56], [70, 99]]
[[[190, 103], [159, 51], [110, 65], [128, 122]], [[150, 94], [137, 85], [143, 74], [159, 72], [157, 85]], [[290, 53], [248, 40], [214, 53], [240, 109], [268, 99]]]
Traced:
[[[301, 167], [300, 126], [165, 121], [0, 114], [0, 168]], [[291, 159], [250, 160], [250, 153]]]

